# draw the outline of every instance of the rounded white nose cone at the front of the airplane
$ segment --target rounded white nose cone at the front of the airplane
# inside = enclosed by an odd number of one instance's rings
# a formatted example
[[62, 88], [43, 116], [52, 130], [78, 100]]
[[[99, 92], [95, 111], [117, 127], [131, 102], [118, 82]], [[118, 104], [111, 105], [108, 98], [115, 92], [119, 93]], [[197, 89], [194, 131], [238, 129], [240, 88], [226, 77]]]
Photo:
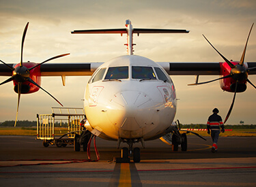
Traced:
[[111, 99], [108, 109], [109, 120], [119, 129], [124, 131], [137, 131], [147, 124], [152, 124], [152, 99], [143, 92], [124, 91], [118, 92]]

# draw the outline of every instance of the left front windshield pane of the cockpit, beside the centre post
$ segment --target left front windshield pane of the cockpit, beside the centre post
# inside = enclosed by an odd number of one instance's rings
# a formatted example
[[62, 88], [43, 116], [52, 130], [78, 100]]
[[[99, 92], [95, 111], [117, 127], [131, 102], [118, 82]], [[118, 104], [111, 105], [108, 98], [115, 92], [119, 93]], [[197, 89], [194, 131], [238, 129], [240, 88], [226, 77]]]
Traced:
[[125, 67], [109, 67], [105, 80], [128, 79], [128, 66]]

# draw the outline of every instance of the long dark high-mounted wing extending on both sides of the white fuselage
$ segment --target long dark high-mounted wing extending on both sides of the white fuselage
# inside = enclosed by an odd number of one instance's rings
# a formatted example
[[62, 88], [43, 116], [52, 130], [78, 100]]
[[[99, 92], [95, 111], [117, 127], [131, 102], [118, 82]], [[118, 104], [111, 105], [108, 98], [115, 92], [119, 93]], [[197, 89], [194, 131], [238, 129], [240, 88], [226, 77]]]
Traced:
[[[103, 63], [48, 63], [40, 66], [41, 76], [83, 76], [92, 75]], [[169, 75], [220, 75], [220, 63], [171, 63], [159, 62]], [[256, 63], [246, 63], [250, 75], [256, 74]], [[8, 64], [13, 67], [15, 64]], [[1, 76], [12, 76], [12, 70], [0, 64]]]

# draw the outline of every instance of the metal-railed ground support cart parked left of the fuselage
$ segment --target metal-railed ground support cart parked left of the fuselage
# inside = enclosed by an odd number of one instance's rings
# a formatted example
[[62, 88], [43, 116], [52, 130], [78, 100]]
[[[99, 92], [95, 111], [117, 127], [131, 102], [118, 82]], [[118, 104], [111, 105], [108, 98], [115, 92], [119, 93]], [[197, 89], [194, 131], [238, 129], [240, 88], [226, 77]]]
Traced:
[[74, 144], [74, 149], [77, 149], [74, 139], [83, 133], [80, 126], [80, 122], [86, 118], [83, 108], [52, 107], [52, 112], [37, 114], [37, 139], [43, 140], [44, 147]]

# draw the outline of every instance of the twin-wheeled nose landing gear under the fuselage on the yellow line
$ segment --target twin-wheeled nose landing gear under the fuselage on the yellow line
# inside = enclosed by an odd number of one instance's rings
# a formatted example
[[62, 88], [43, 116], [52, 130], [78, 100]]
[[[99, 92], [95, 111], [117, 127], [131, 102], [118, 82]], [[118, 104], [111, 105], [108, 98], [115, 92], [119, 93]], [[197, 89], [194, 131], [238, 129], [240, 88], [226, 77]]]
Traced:
[[129, 148], [122, 148], [121, 150], [121, 158], [116, 158], [116, 163], [130, 163], [130, 158], [133, 158], [134, 163], [139, 163], [141, 161], [141, 149], [140, 148], [132, 148], [133, 143], [137, 143], [141, 141], [143, 148], [144, 141], [142, 138], [140, 139], [119, 139], [118, 140], [118, 148], [121, 142], [125, 142], [128, 144]]

